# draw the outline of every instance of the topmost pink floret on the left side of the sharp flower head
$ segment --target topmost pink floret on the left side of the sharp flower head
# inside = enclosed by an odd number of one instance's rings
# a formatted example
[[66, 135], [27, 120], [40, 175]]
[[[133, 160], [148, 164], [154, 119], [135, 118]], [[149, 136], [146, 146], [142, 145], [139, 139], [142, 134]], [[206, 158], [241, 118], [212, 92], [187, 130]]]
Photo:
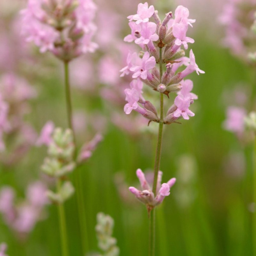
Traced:
[[155, 9], [153, 5], [149, 6], [147, 2], [139, 3], [137, 14], [130, 15], [127, 18], [129, 21], [136, 21], [136, 24], [140, 24], [141, 22], [148, 22], [149, 18], [154, 14], [154, 11]]

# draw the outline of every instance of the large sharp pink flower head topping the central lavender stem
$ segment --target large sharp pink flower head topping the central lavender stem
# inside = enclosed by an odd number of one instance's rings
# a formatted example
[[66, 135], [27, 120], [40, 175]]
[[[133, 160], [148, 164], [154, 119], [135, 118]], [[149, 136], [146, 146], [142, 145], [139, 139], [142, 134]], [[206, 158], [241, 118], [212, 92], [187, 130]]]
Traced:
[[[153, 17], [154, 22], [149, 21]], [[157, 10], [148, 6], [148, 3], [138, 5], [137, 14], [128, 16], [131, 34], [125, 37], [126, 42], [135, 42], [142, 51], [137, 54], [129, 53], [127, 56], [127, 66], [121, 69], [121, 76], [132, 75], [134, 79], [130, 83], [130, 88], [125, 89], [126, 101], [128, 102], [124, 111], [130, 114], [135, 110], [150, 121], [159, 122], [157, 110], [153, 104], [144, 99], [143, 83], [153, 90], [164, 93], [169, 97], [169, 93], [177, 93], [173, 106], [167, 111], [163, 120], [165, 124], [170, 124], [178, 118], [189, 119], [194, 116], [190, 111], [190, 104], [197, 99], [191, 93], [193, 82], [184, 80], [186, 76], [196, 71], [197, 74], [204, 73], [195, 63], [195, 55], [190, 50], [189, 58], [185, 57], [188, 43], [194, 40], [188, 37], [189, 26], [192, 27], [194, 19], [189, 19], [189, 10], [182, 5], [175, 10], [175, 16], [168, 12], [163, 22], [161, 22]], [[160, 50], [162, 56], [160, 56]], [[160, 77], [160, 72], [156, 64], [165, 64], [165, 72]], [[176, 72], [178, 68], [185, 66], [183, 71]]]

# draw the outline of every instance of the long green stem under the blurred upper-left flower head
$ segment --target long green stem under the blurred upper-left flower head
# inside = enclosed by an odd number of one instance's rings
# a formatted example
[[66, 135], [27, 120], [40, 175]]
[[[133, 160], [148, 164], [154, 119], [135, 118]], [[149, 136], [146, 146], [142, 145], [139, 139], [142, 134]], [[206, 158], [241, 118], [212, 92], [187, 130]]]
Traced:
[[[70, 83], [69, 83], [69, 62], [64, 62], [64, 70], [65, 70], [65, 90], [66, 90], [66, 105], [67, 105], [67, 119], [68, 119], [68, 126], [69, 129], [73, 131], [74, 136], [74, 160], [77, 156], [77, 145], [76, 145], [76, 137], [74, 133], [73, 127], [73, 112], [72, 112], [72, 103], [71, 103], [71, 93], [70, 93]], [[83, 255], [86, 253], [86, 248], [88, 248], [88, 236], [86, 233], [86, 216], [85, 216], [85, 204], [84, 204], [84, 197], [83, 197], [83, 189], [81, 183], [81, 175], [80, 169], [76, 168], [74, 170], [74, 183], [76, 188], [76, 202], [78, 207], [78, 219], [79, 219], [79, 229], [81, 235], [81, 242], [82, 242], [82, 249]]]

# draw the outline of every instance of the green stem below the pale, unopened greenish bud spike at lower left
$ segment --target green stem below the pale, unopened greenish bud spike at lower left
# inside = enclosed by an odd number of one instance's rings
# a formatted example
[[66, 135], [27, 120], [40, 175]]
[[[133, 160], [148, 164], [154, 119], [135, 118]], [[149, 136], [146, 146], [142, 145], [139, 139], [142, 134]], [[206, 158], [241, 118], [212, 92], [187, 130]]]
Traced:
[[[61, 190], [61, 180], [57, 180], [57, 191]], [[59, 212], [59, 225], [60, 225], [60, 233], [61, 233], [61, 249], [62, 256], [69, 256], [68, 242], [67, 242], [67, 227], [66, 227], [66, 216], [64, 211], [63, 203], [58, 204], [58, 212]]]

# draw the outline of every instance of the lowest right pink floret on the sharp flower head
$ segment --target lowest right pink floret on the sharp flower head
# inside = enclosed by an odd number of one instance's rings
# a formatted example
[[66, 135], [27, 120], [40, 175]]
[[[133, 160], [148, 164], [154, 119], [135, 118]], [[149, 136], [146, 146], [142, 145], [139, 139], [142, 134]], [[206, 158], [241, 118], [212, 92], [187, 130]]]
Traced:
[[177, 109], [173, 113], [173, 116], [176, 118], [182, 116], [186, 120], [189, 119], [189, 116], [194, 116], [195, 114], [189, 110], [190, 100], [190, 97], [183, 97], [183, 95], [178, 95], [174, 100], [174, 104], [176, 105]]

